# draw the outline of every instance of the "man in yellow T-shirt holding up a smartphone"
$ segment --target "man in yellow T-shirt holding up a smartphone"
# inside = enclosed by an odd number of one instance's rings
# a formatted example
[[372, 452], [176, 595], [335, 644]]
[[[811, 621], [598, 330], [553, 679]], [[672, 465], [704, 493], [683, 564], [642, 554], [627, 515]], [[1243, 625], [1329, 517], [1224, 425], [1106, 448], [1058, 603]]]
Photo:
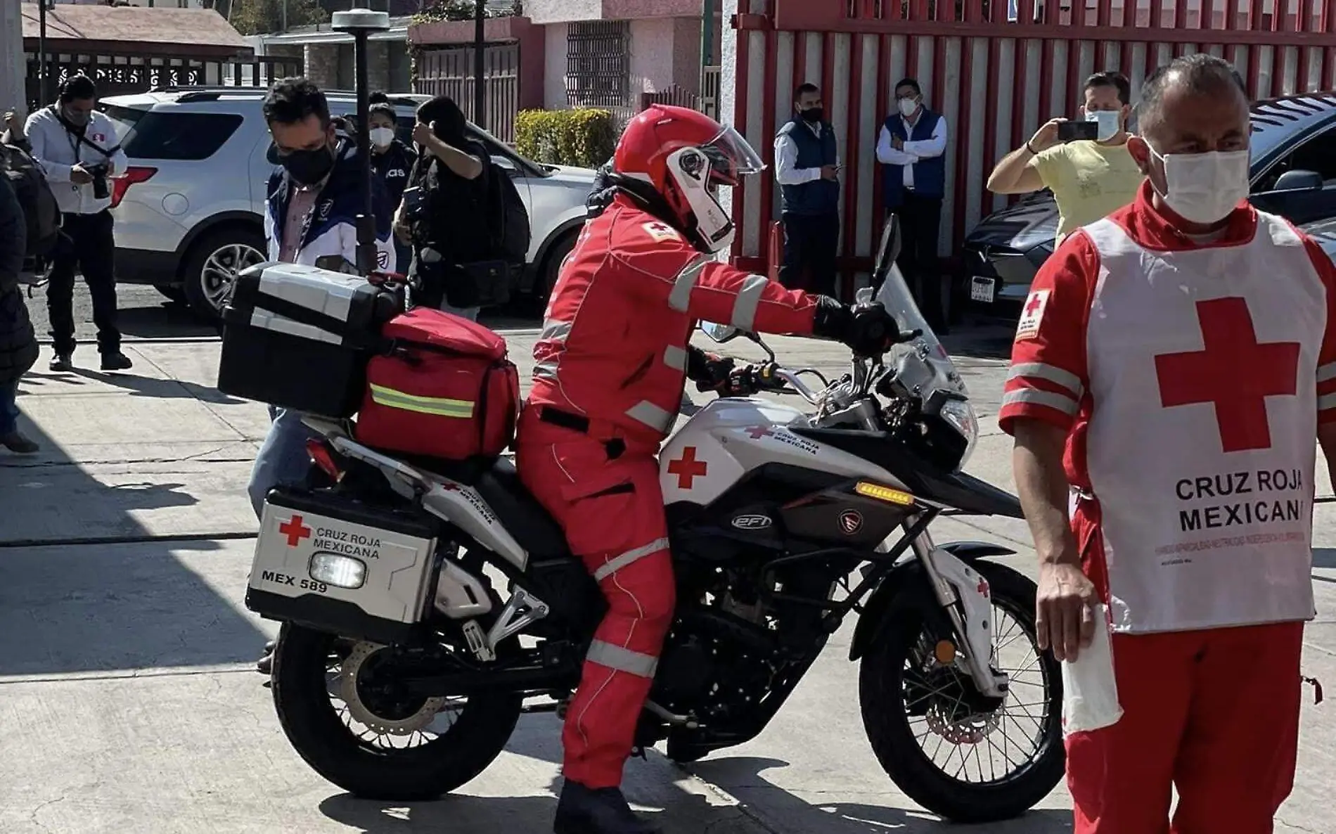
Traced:
[[994, 194], [1053, 191], [1058, 239], [1132, 203], [1145, 175], [1128, 152], [1132, 84], [1120, 72], [1086, 79], [1077, 120], [1051, 119], [989, 176]]

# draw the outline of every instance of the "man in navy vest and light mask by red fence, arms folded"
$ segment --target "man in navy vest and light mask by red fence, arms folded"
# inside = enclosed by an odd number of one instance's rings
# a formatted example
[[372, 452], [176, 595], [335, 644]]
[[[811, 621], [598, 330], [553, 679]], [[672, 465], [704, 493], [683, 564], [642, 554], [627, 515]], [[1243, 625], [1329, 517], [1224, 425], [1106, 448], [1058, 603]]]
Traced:
[[895, 100], [899, 112], [886, 119], [876, 143], [882, 200], [900, 218], [900, 271], [923, 317], [945, 333], [950, 285], [942, 279], [937, 245], [946, 194], [946, 119], [923, 106], [923, 90], [914, 79], [895, 86]]

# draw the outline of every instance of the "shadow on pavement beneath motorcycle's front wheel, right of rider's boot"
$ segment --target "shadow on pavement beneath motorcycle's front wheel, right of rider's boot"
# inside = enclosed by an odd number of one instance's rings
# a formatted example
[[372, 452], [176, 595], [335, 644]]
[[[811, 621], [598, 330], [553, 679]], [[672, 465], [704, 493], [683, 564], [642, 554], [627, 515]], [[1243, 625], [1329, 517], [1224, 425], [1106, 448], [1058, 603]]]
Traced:
[[[691, 764], [687, 770], [705, 782], [720, 786], [744, 806], [763, 806], [758, 814], [763, 822], [783, 821], [780, 831], [822, 831], [822, 834], [941, 834], [943, 831], [990, 831], [997, 834], [1065, 834], [1071, 830], [1071, 811], [1039, 809], [1017, 821], [986, 825], [955, 825], [941, 822], [927, 811], [858, 802], [808, 803], [787, 790], [768, 782], [767, 770], [788, 767], [783, 759], [760, 756], [733, 756], [708, 759]], [[739, 787], [741, 786], [741, 787]], [[887, 783], [887, 787], [891, 787]], [[838, 786], [831, 786], [838, 793]], [[758, 791], [764, 799], [755, 801]]]

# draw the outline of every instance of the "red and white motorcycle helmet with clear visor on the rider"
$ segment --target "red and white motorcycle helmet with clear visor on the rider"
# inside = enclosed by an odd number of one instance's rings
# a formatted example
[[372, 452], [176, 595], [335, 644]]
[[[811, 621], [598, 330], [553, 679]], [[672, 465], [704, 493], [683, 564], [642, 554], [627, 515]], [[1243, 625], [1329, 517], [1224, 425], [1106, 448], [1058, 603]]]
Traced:
[[731, 126], [685, 107], [652, 104], [636, 114], [617, 142], [613, 170], [653, 187], [679, 226], [708, 251], [733, 237], [732, 218], [719, 204], [719, 187], [733, 187], [766, 168]]

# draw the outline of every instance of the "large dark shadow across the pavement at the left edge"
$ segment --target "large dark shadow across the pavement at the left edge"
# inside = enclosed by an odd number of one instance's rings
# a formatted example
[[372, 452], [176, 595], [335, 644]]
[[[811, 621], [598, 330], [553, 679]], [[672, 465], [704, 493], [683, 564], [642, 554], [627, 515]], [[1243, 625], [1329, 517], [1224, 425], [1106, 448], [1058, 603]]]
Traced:
[[[20, 396], [20, 412], [33, 398]], [[115, 396], [104, 400], [115, 408]], [[20, 426], [41, 452], [0, 449], [0, 676], [253, 662], [265, 638], [231, 601], [244, 589], [250, 547], [223, 549], [215, 540], [191, 540], [188, 531], [162, 540], [138, 517], [196, 505], [180, 476], [159, 469], [136, 477], [135, 460], [90, 472], [27, 414]], [[99, 480], [95, 472], [103, 470], [114, 482]], [[21, 527], [5, 524], [17, 513]]]

